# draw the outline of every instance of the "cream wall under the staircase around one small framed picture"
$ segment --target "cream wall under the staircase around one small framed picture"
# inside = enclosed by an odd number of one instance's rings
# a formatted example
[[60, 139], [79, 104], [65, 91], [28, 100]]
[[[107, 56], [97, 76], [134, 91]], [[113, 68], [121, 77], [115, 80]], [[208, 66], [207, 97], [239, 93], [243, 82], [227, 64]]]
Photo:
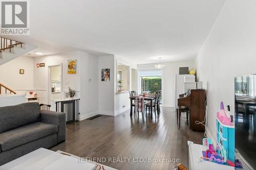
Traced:
[[[33, 57], [21, 56], [0, 66], [0, 83], [14, 91], [34, 89]], [[24, 69], [24, 75], [19, 74]]]

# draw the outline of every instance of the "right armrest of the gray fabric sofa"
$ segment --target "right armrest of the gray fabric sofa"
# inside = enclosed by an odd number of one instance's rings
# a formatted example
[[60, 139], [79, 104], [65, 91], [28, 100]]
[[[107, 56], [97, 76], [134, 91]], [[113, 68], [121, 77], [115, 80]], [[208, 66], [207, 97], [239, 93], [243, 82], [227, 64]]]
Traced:
[[40, 110], [41, 122], [58, 126], [57, 142], [66, 140], [66, 113]]

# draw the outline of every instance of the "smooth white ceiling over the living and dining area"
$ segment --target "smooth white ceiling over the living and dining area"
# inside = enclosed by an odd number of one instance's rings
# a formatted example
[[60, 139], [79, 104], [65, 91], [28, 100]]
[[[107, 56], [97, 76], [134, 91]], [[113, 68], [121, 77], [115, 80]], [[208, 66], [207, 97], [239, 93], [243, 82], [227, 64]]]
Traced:
[[19, 39], [136, 64], [195, 59], [224, 1], [33, 0], [30, 36]]

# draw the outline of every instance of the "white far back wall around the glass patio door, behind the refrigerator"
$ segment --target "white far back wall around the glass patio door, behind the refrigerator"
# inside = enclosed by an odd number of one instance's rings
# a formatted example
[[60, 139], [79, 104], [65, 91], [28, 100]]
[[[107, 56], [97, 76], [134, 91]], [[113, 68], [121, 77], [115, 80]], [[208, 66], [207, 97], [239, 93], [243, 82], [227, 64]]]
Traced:
[[[162, 69], [162, 106], [174, 107], [175, 101], [175, 75], [179, 74], [179, 67], [188, 67], [189, 69], [195, 67], [194, 60], [175, 61], [164, 63], [165, 67]], [[138, 70], [155, 70], [155, 64], [139, 64]]]

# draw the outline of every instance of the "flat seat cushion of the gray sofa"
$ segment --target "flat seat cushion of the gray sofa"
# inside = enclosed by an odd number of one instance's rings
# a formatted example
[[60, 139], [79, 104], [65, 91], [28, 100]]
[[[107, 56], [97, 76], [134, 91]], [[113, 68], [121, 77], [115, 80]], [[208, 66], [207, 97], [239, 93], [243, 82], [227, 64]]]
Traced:
[[58, 132], [58, 126], [36, 122], [0, 134], [2, 151], [10, 150], [19, 145]]

